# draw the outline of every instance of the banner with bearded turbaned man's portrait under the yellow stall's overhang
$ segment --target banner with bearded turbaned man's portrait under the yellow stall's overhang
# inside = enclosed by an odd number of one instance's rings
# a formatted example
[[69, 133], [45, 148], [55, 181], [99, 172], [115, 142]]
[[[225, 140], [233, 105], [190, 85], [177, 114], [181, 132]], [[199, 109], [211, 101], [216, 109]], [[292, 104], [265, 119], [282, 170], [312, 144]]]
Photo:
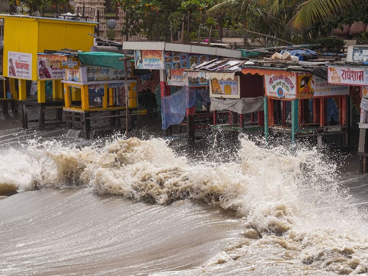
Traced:
[[48, 55], [38, 55], [38, 78], [39, 79], [64, 79], [65, 70], [60, 68], [60, 60]]

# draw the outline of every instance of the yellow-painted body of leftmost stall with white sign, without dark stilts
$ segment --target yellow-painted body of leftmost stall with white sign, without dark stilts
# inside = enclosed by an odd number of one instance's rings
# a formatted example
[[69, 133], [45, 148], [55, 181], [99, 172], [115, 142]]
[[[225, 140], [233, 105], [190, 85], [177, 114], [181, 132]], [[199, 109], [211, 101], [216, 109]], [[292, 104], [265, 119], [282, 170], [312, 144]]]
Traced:
[[[70, 49], [89, 51], [94, 44], [97, 22], [0, 15], [4, 20], [3, 75], [11, 78], [14, 98], [19, 79], [19, 99], [26, 99], [26, 80], [38, 82], [38, 102], [45, 102], [44, 79], [39, 76], [38, 53]], [[61, 79], [53, 80], [53, 91], [62, 97]]]

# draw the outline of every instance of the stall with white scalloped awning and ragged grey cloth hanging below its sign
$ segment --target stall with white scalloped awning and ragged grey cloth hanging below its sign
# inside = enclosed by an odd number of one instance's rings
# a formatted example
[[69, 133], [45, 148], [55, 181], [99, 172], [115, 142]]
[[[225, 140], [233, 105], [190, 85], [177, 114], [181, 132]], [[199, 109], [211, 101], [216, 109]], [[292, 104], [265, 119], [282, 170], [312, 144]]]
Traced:
[[[247, 63], [239, 59], [219, 59], [203, 63], [188, 73], [191, 79], [210, 83], [211, 112], [214, 129], [243, 132], [263, 128], [263, 77], [242, 74]], [[218, 122], [218, 115], [227, 113], [227, 122]]]

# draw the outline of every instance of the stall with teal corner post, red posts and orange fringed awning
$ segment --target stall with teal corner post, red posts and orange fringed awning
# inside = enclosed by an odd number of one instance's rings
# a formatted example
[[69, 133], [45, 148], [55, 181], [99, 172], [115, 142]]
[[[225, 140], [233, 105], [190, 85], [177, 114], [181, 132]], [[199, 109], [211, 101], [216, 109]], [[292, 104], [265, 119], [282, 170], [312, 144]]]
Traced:
[[[299, 62], [299, 66], [275, 63], [243, 65], [243, 74], [264, 76], [265, 138], [271, 133], [296, 138], [338, 135], [346, 145], [348, 135], [347, 101], [349, 87], [329, 84], [325, 63]], [[270, 63], [271, 64], [271, 63]], [[326, 72], [326, 74], [325, 74]], [[315, 73], [315, 74], [314, 74]], [[328, 99], [333, 99], [337, 118], [329, 119]]]

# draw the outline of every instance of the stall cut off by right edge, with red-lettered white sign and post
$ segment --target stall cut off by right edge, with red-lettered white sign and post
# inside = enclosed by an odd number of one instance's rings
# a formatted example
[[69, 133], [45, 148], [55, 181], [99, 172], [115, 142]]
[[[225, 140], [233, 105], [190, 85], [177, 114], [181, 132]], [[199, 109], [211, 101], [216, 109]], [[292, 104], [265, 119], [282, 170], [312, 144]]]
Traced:
[[360, 156], [359, 172], [368, 172], [368, 68], [363, 63], [368, 60], [368, 46], [349, 46], [347, 62], [328, 65], [328, 81], [340, 86], [359, 86], [360, 121], [359, 121], [359, 144], [357, 154]]

